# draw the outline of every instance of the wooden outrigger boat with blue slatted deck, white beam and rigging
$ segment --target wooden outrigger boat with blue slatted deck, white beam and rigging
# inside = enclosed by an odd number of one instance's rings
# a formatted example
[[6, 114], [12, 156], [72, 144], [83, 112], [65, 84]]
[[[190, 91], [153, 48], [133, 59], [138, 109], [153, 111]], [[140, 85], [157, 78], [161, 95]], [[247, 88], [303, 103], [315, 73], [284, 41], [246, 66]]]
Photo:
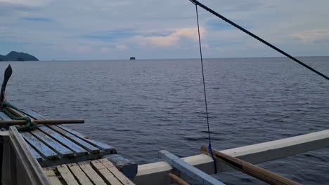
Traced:
[[[198, 1], [190, 1], [196, 7], [205, 8], [329, 80], [328, 76], [307, 66]], [[196, 10], [198, 13], [197, 8]], [[199, 43], [202, 55], [200, 33]], [[137, 165], [120, 156], [114, 147], [90, 139], [63, 125], [65, 123], [84, 123], [83, 120], [52, 120], [32, 109], [19, 109], [13, 106], [8, 102], [5, 94], [6, 84], [11, 74], [12, 69], [9, 65], [4, 74], [0, 94], [2, 184], [167, 185], [176, 183], [186, 185], [188, 181], [196, 184], [224, 184], [220, 179], [215, 179], [209, 174], [233, 169], [268, 184], [299, 184], [293, 179], [288, 179], [255, 164], [329, 146], [329, 130], [224, 151], [212, 149], [209, 137], [209, 145], [200, 146], [199, 155], [179, 158], [174, 153], [160, 150], [160, 162]], [[207, 103], [207, 101], [205, 102]]]

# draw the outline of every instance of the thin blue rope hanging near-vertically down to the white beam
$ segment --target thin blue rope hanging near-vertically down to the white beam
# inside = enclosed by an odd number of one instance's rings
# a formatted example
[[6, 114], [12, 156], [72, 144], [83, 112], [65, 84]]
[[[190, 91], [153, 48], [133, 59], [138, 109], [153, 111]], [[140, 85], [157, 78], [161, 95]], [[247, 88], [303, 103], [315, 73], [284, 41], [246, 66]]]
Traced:
[[198, 36], [199, 36], [200, 60], [201, 60], [201, 68], [202, 68], [203, 93], [205, 94], [205, 109], [206, 109], [207, 126], [208, 126], [208, 139], [209, 139], [208, 149], [210, 151], [210, 155], [212, 156], [212, 160], [214, 160], [214, 172], [215, 172], [215, 174], [217, 174], [216, 160], [214, 158], [214, 155], [212, 154], [212, 139], [210, 137], [210, 129], [209, 129], [207, 93], [206, 93], [206, 88], [205, 88], [205, 72], [203, 70], [202, 47], [201, 47], [200, 28], [199, 28], [200, 27], [199, 26], [199, 15], [198, 15], [198, 6], [196, 4], [195, 4], [195, 11], [196, 11], [197, 22], [198, 22]]

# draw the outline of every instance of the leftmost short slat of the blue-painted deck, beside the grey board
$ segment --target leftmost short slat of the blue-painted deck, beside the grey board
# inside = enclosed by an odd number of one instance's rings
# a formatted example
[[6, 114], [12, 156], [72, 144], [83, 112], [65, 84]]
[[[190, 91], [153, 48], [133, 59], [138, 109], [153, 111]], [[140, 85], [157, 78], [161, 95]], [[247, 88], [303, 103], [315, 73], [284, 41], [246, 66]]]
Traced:
[[58, 154], [46, 146], [43, 142], [40, 142], [39, 139], [35, 138], [29, 132], [20, 132], [20, 135], [24, 137], [25, 141], [30, 144], [38, 153], [41, 154], [46, 159], [57, 158]]

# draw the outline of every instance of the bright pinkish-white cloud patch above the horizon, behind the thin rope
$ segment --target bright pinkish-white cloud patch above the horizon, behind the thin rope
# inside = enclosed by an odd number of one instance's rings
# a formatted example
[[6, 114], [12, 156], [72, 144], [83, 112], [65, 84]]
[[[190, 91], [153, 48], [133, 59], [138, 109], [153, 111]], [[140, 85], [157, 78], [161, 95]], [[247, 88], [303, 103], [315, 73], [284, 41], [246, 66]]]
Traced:
[[[200, 27], [200, 36], [206, 33], [203, 27]], [[167, 36], [136, 36], [141, 45], [172, 46], [178, 43], [180, 39], [192, 39], [198, 41], [198, 28], [180, 28]]]

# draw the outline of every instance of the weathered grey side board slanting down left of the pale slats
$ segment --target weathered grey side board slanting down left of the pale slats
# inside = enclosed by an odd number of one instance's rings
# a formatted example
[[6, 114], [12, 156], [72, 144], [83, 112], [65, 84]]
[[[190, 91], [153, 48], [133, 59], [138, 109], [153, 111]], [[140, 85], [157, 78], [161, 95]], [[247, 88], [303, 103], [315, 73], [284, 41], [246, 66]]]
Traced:
[[[31, 153], [29, 146], [15, 127], [9, 128], [9, 137], [13, 151], [15, 151], [12, 156], [16, 157], [17, 167], [19, 167], [22, 172], [21, 175], [18, 174], [18, 177], [21, 178], [18, 180], [24, 181], [25, 184], [50, 185], [50, 181], [46, 177], [46, 174], [44, 174], [44, 170], [42, 170]], [[27, 177], [27, 179], [22, 179], [22, 177]]]

